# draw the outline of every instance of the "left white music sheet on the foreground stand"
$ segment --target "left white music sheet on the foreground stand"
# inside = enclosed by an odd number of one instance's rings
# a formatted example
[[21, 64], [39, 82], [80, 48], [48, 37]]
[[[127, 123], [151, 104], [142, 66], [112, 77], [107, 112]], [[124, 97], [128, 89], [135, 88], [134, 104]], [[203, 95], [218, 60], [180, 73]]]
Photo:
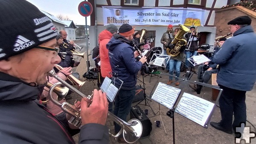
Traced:
[[180, 89], [159, 82], [151, 99], [172, 109], [179, 94]]

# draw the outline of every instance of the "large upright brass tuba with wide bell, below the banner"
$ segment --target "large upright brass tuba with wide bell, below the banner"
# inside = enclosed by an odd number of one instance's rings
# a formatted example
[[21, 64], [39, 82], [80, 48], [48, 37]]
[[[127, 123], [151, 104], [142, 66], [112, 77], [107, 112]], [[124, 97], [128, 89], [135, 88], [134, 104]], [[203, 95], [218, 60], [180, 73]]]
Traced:
[[[173, 49], [166, 49], [167, 55], [171, 55], [172, 57], [176, 57], [177, 55], [179, 55], [181, 46], [185, 46], [187, 44], [187, 41], [182, 39], [182, 37], [185, 33], [190, 32], [190, 30], [186, 26], [179, 24], [179, 27], [179, 32], [175, 35], [174, 39], [172, 40], [172, 44], [174, 44], [175, 47]], [[181, 41], [184, 41], [185, 44], [180, 45]]]

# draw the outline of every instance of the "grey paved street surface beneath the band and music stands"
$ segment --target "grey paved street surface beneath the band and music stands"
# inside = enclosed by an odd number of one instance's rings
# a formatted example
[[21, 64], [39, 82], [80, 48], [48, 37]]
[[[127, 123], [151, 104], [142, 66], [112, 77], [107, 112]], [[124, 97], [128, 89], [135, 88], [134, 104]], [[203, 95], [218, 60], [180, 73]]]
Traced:
[[[76, 42], [77, 44], [81, 44], [79, 41]], [[86, 50], [85, 47], [82, 51]], [[90, 52], [90, 50], [89, 50]], [[91, 59], [91, 55], [89, 56], [89, 59]], [[90, 60], [91, 63], [93, 63], [92, 60]], [[93, 65], [93, 64], [92, 64]], [[75, 69], [76, 72], [79, 72], [80, 74], [80, 80], [84, 81], [85, 78], [82, 77], [84, 72], [87, 71], [87, 65], [86, 65], [86, 57], [84, 59], [81, 59], [80, 65]], [[158, 71], [163, 72], [163, 70], [160, 68]], [[197, 71], [197, 68], [195, 69]], [[185, 72], [181, 72], [180, 76], [181, 78], [184, 78], [183, 74]], [[169, 80], [168, 76], [161, 75], [162, 78], [159, 78], [159, 81], [162, 83], [167, 83]], [[142, 81], [142, 75], [138, 78]], [[151, 82], [149, 83], [151, 79]], [[145, 93], [146, 95], [149, 95], [154, 88], [154, 85], [157, 83], [158, 76], [150, 77], [145, 76], [144, 82], [145, 82]], [[171, 86], [177, 87], [179, 89], [182, 89], [183, 92], [187, 92], [192, 95], [196, 95], [200, 98], [204, 98], [207, 101], [212, 101], [212, 89], [205, 87], [201, 91], [201, 95], [197, 95], [196, 92], [189, 88], [188, 83], [192, 81], [196, 81], [197, 75], [192, 75], [192, 78], [190, 81], [182, 81], [180, 82], [180, 86], [175, 86], [172, 84]], [[142, 82], [137, 81], [137, 85], [143, 85]], [[210, 84], [210, 81], [209, 81]], [[97, 89], [97, 81], [86, 81], [86, 83], [79, 89], [81, 92], [83, 92], [85, 95], [91, 95], [91, 92], [93, 89]], [[154, 89], [153, 91], [154, 92]], [[74, 93], [73, 99], [68, 100], [71, 104], [75, 101], [75, 99], [80, 100], [81, 98]], [[247, 99], [247, 120], [250, 121], [254, 126], [256, 126], [256, 86], [254, 86], [254, 89], [250, 92], [246, 93]], [[214, 102], [214, 101], [213, 101]], [[133, 103], [132, 105], [136, 105], [137, 103]], [[149, 104], [149, 105], [148, 105]], [[168, 117], [166, 115], [166, 112], [169, 110], [166, 107], [160, 105], [156, 102], [148, 98], [148, 104], [145, 105], [145, 101], [142, 101], [139, 106], [141, 109], [148, 109], [148, 117], [152, 122], [152, 131], [148, 138], [140, 139], [135, 144], [172, 144], [173, 143], [173, 125], [172, 125], [172, 118]], [[157, 113], [157, 115], [154, 115], [154, 112]], [[159, 113], [161, 115], [159, 115]], [[175, 143], [177, 144], [234, 144], [235, 143], [235, 137], [234, 134], [227, 134], [224, 132], [221, 132], [219, 130], [214, 129], [213, 127], [209, 126], [207, 129], [202, 127], [201, 125], [189, 120], [188, 118], [185, 118], [182, 115], [179, 115], [177, 113], [175, 115]], [[162, 119], [161, 119], [162, 118]], [[220, 115], [220, 109], [218, 107], [215, 108], [211, 121], [218, 122], [221, 119]], [[129, 116], [127, 118], [129, 120]], [[160, 127], [156, 127], [156, 124], [154, 121], [160, 121]], [[250, 126], [251, 124], [247, 122], [247, 126]], [[113, 132], [113, 121], [109, 120], [107, 121], [107, 125], [110, 128], [110, 131]], [[166, 129], [166, 132], [164, 130], [164, 127]], [[256, 131], [255, 128], [251, 127], [251, 131]], [[167, 133], [167, 134], [166, 134]], [[76, 142], [78, 142], [79, 135], [75, 135], [74, 138], [76, 139]], [[251, 140], [252, 144], [256, 144], [256, 139]], [[109, 144], [118, 144], [118, 142], [111, 138], [111, 141]]]

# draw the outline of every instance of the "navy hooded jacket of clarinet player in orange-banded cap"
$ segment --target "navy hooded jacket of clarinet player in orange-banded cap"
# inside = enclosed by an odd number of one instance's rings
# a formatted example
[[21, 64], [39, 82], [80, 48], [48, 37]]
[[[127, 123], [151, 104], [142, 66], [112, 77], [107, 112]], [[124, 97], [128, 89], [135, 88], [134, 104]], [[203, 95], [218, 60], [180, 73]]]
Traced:
[[[119, 34], [114, 34], [107, 44], [107, 49], [112, 71], [123, 81], [121, 89], [135, 89], [136, 75], [142, 63], [136, 62], [131, 41]], [[120, 86], [121, 81], [115, 81], [115, 84]]]

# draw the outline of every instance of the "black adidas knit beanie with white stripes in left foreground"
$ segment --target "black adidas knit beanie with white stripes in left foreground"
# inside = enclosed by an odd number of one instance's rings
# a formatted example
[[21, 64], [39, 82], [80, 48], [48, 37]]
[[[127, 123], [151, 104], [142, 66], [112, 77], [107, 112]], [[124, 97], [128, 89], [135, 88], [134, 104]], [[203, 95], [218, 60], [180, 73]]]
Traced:
[[0, 0], [0, 60], [56, 37], [49, 17], [26, 0]]

